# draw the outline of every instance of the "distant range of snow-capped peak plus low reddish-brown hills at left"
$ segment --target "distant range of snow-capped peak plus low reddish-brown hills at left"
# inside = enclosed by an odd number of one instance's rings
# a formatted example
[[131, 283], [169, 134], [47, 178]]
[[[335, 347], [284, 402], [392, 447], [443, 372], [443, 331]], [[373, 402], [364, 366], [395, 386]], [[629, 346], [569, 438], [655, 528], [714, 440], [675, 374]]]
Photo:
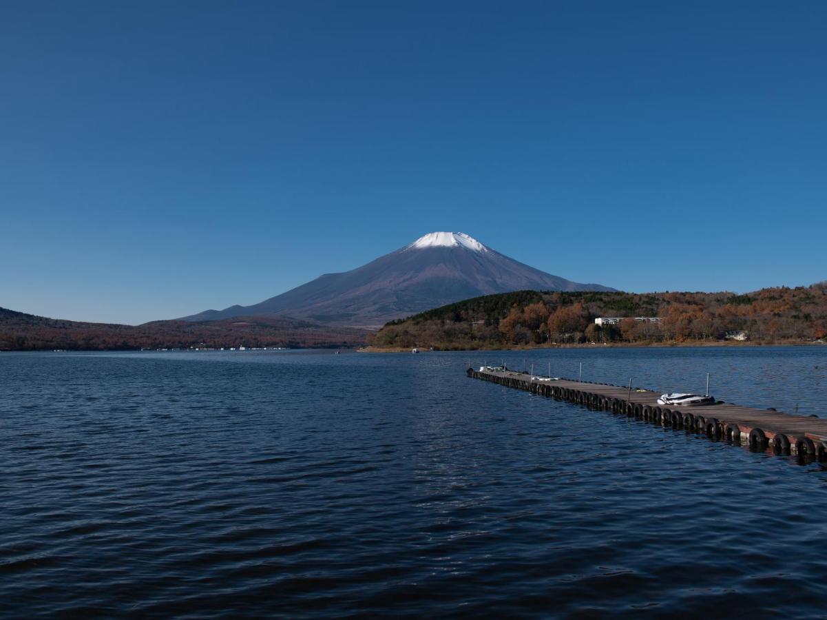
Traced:
[[232, 305], [141, 325], [50, 319], [0, 308], [0, 350], [338, 347], [390, 320], [470, 297], [511, 291], [614, 291], [541, 272], [465, 233], [429, 233], [344, 273], [256, 305]]

